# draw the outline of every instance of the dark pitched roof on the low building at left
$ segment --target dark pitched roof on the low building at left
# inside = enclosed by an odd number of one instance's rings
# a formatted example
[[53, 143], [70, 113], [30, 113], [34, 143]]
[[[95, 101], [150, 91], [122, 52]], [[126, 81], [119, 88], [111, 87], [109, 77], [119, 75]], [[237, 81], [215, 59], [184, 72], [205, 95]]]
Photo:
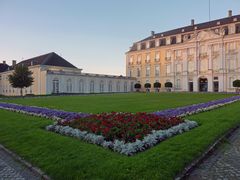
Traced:
[[48, 65], [48, 66], [60, 66], [60, 67], [70, 67], [77, 68], [72, 65], [70, 62], [56, 54], [55, 52], [51, 52], [48, 54], [44, 54], [41, 56], [37, 56], [31, 59], [27, 59], [19, 62], [17, 65], [26, 65], [26, 66], [34, 66], [34, 65]]

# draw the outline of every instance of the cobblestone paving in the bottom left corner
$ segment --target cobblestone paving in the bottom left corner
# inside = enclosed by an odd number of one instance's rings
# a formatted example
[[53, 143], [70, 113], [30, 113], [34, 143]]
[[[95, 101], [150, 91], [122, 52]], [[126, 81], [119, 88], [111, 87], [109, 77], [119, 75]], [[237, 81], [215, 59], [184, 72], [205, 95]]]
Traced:
[[40, 180], [39, 175], [30, 171], [0, 149], [0, 180]]

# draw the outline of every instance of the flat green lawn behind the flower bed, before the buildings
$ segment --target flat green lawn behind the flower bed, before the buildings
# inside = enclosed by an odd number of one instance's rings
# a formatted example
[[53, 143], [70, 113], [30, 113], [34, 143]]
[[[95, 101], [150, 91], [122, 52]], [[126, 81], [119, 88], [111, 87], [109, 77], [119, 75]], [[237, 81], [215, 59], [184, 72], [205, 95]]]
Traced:
[[2, 99], [24, 105], [76, 112], [153, 112], [233, 96], [216, 93], [132, 93], [89, 96]]

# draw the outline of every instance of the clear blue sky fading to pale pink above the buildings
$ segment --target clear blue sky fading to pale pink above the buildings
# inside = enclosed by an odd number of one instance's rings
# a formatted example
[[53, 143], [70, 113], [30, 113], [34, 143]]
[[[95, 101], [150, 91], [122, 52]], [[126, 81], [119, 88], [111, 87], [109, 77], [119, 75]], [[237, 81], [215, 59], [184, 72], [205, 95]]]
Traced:
[[[211, 19], [240, 0], [211, 0]], [[125, 75], [125, 52], [150, 35], [208, 21], [208, 0], [0, 0], [0, 61], [56, 52], [85, 72]]]

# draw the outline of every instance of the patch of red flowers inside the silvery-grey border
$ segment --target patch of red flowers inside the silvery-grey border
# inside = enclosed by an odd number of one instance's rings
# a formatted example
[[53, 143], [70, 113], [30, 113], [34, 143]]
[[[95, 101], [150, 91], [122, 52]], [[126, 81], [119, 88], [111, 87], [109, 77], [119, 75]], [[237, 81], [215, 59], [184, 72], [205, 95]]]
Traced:
[[115, 139], [134, 142], [143, 139], [152, 130], [164, 130], [183, 123], [180, 117], [160, 117], [147, 113], [101, 113], [76, 118], [71, 121], [58, 121], [57, 125], [70, 126], [81, 131], [102, 135], [107, 141]]

